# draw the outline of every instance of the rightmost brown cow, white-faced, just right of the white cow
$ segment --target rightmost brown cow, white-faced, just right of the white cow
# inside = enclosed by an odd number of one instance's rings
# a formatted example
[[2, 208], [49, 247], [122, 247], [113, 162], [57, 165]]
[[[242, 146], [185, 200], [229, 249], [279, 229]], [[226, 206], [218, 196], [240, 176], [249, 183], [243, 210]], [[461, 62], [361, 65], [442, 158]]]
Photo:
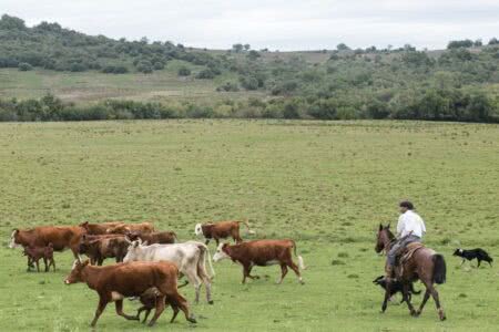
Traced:
[[292, 251], [298, 258], [299, 269], [304, 270], [305, 266], [302, 256], [296, 255], [296, 243], [293, 240], [255, 240], [237, 245], [221, 243], [216, 249], [213, 260], [220, 261], [225, 258], [238, 262], [243, 266], [243, 283], [246, 278], [258, 279], [258, 276], [251, 276], [254, 266], [266, 267], [272, 264], [281, 264], [281, 279], [277, 283], [283, 282], [287, 273], [287, 267], [292, 268], [298, 277], [299, 283], [304, 283], [299, 274], [298, 267], [293, 262]]

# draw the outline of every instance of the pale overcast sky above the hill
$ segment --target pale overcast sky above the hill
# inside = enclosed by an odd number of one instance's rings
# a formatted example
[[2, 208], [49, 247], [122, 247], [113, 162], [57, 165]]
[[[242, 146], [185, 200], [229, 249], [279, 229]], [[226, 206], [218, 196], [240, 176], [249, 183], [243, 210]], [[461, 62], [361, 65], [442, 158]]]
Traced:
[[499, 38], [499, 0], [0, 0], [0, 13], [28, 25], [55, 21], [89, 34], [211, 49], [441, 49], [454, 39]]

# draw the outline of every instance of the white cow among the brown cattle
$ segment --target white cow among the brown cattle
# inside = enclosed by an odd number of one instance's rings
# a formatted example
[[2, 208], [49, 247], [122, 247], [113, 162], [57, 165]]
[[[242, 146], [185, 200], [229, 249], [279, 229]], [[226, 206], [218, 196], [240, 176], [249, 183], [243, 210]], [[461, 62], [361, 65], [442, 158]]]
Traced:
[[[206, 272], [206, 259], [212, 270], [212, 277]], [[206, 299], [210, 304], [212, 300], [211, 278], [215, 276], [212, 261], [210, 260], [208, 248], [201, 242], [189, 241], [174, 245], [151, 245], [144, 246], [141, 240], [131, 241], [129, 252], [124, 258], [128, 261], [162, 261], [167, 260], [174, 262], [182, 274], [192, 283], [196, 291], [195, 302], [200, 302], [201, 286], [206, 287]]]

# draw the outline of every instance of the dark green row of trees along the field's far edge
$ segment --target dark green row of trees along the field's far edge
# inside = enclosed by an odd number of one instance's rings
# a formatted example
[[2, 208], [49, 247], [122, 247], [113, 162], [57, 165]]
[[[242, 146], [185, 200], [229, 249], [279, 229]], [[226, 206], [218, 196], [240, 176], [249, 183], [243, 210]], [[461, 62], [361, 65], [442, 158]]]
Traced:
[[301, 118], [428, 120], [499, 123], [499, 103], [480, 92], [422, 90], [383, 96], [226, 100], [214, 105], [192, 102], [141, 103], [110, 100], [95, 105], [63, 103], [53, 95], [40, 100], [0, 101], [2, 122], [159, 120], [159, 118]]

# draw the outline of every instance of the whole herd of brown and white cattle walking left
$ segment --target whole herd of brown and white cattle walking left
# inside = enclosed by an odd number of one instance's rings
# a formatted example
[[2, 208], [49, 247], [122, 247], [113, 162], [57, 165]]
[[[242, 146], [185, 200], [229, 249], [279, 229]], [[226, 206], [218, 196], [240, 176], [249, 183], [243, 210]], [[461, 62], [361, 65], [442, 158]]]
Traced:
[[[206, 300], [213, 304], [212, 280], [215, 271], [212, 266], [210, 249], [211, 239], [217, 245], [214, 261], [231, 259], [243, 266], [243, 283], [246, 278], [255, 279], [251, 271], [254, 266], [281, 266], [281, 283], [291, 268], [303, 283], [299, 270], [305, 269], [303, 258], [296, 253], [293, 240], [252, 240], [243, 241], [240, 236], [240, 224], [247, 221], [220, 221], [213, 224], [197, 224], [194, 234], [204, 237], [205, 243], [198, 241], [179, 242], [173, 231], [155, 231], [151, 222], [125, 224], [121, 221], [90, 224], [78, 226], [40, 226], [29, 229], [14, 229], [9, 247], [22, 247], [28, 257], [28, 270], [39, 260], [45, 264], [45, 272], [50, 267], [55, 271], [54, 251], [70, 249], [75, 258], [67, 284], [84, 282], [99, 294], [99, 304], [91, 326], [109, 302], [114, 302], [116, 313], [128, 320], [140, 320], [145, 311], [143, 322], [149, 318], [152, 309], [154, 315], [149, 322], [153, 325], [166, 305], [173, 310], [173, 322], [182, 310], [185, 319], [195, 323], [189, 311], [187, 301], [179, 293], [179, 288], [191, 283], [195, 289], [195, 302], [200, 301], [201, 287], [206, 289]], [[221, 239], [232, 237], [235, 245], [220, 243]], [[293, 261], [293, 253], [298, 264]], [[82, 260], [81, 256], [88, 256]], [[114, 258], [115, 264], [102, 267], [106, 258]], [[210, 266], [210, 274], [206, 270]], [[179, 286], [177, 281], [186, 281]], [[139, 298], [142, 307], [135, 315], [123, 312], [123, 299]]]

